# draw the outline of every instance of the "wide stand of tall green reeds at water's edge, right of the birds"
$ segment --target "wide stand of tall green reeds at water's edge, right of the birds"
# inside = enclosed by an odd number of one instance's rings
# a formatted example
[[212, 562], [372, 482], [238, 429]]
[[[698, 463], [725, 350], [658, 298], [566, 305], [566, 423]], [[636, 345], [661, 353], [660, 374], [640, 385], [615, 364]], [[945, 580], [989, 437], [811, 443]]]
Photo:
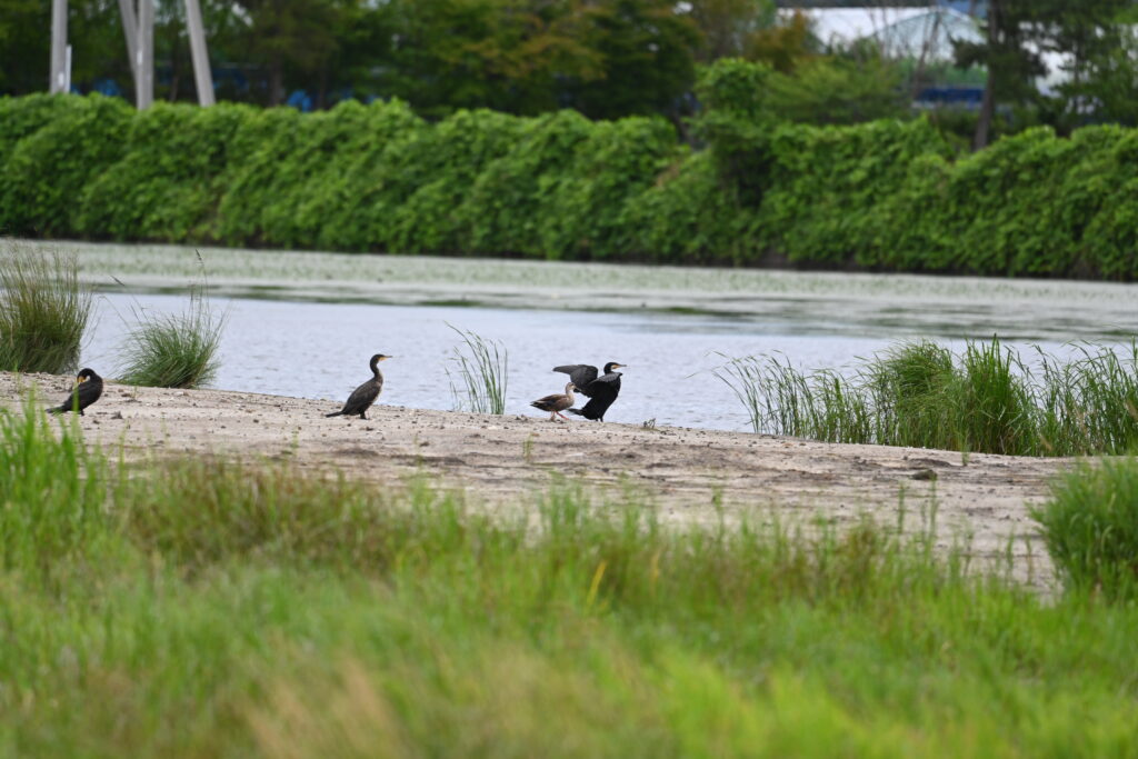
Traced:
[[951, 350], [900, 344], [849, 372], [784, 356], [732, 358], [715, 376], [754, 432], [1009, 455], [1119, 454], [1138, 447], [1138, 344], [1080, 345], [1034, 363], [998, 338]]

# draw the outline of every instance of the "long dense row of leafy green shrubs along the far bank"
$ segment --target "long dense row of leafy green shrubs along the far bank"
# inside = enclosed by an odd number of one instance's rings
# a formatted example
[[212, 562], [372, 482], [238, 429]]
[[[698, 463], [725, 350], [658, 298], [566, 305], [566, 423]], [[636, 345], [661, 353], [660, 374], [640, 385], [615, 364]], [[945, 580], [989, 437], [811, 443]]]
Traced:
[[760, 66], [701, 84], [706, 150], [658, 118], [401, 102], [299, 114], [0, 99], [0, 233], [401, 254], [1138, 277], [1138, 132], [975, 155], [925, 119], [777, 123]]

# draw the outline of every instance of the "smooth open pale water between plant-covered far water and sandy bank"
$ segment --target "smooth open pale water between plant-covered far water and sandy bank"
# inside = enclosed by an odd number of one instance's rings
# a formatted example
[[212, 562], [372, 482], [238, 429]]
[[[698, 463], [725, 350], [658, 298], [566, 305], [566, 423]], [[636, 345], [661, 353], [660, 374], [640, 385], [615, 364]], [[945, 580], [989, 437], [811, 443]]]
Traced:
[[[841, 368], [899, 339], [938, 337], [921, 320], [902, 315], [890, 324], [861, 323], [834, 311], [809, 317], [597, 313], [457, 306], [282, 302], [216, 298], [228, 314], [221, 370], [214, 386], [230, 390], [328, 399], [329, 411], [369, 377], [372, 353], [395, 356], [382, 365], [382, 403], [451, 410], [447, 369], [460, 345], [447, 325], [502, 341], [509, 350], [508, 413], [538, 414], [529, 402], [560, 391], [567, 378], [554, 365], [608, 361], [628, 364], [620, 398], [608, 421], [749, 429], [731, 390], [711, 374], [727, 356], [781, 352], [803, 369]], [[83, 364], [115, 376], [123, 335], [133, 314], [180, 313], [185, 296], [107, 292], [97, 296], [98, 320]], [[927, 314], [924, 314], [925, 316]], [[825, 316], [825, 317], [824, 317]], [[960, 347], [958, 324], [946, 319], [940, 337]], [[978, 335], [976, 337], [983, 337]], [[1059, 350], [1054, 340], [1036, 340]]]

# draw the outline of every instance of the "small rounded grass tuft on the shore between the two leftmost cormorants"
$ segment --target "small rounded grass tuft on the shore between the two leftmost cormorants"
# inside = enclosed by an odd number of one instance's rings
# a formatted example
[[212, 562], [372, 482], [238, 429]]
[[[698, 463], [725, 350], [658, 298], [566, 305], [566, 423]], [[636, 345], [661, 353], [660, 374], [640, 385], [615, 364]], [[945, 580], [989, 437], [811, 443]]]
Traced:
[[[138, 314], [135, 314], [138, 316]], [[214, 314], [204, 288], [190, 288], [183, 314], [138, 316], [123, 346], [122, 381], [146, 387], [195, 388], [217, 374], [224, 315]]]

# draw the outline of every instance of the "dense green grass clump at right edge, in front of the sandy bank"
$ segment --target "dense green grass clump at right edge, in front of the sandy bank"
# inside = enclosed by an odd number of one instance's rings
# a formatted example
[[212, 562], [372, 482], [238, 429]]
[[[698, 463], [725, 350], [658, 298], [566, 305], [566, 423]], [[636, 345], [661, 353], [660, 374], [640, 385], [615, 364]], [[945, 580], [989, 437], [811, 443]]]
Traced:
[[1031, 515], [1067, 588], [1138, 599], [1138, 459], [1080, 465]]

